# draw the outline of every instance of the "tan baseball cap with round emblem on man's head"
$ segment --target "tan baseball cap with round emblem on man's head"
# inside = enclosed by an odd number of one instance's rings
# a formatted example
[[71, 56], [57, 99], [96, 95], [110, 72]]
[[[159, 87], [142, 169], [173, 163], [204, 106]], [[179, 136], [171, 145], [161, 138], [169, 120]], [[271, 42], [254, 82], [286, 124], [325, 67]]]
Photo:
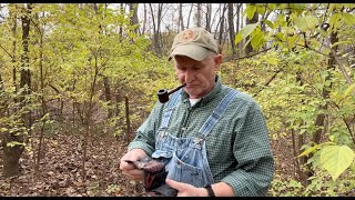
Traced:
[[207, 57], [209, 50], [215, 53], [219, 50], [213, 34], [203, 28], [190, 28], [175, 36], [169, 60], [181, 54], [202, 61]]

